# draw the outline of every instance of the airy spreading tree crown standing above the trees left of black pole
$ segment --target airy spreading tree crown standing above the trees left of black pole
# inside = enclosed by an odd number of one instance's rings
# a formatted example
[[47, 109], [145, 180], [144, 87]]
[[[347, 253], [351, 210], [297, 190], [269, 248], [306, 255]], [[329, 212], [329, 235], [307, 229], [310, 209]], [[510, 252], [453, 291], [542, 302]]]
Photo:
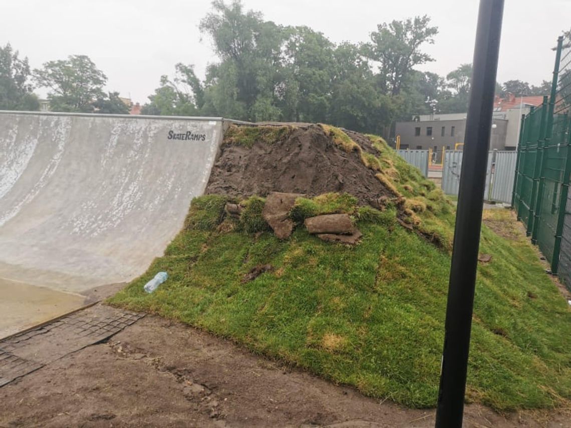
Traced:
[[434, 60], [420, 51], [424, 43], [434, 43], [433, 37], [438, 33], [438, 27], [429, 23], [430, 18], [424, 15], [379, 24], [377, 31], [371, 33], [371, 43], [364, 49], [369, 58], [380, 63], [385, 92], [399, 94], [413, 67]]

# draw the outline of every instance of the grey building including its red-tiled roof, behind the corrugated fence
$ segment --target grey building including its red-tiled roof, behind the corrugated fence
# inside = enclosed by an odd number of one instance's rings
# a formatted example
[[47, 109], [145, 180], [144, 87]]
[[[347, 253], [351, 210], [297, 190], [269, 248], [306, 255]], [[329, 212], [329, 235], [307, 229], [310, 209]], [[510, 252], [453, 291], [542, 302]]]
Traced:
[[[490, 136], [490, 150], [516, 150], [519, 140], [521, 115], [529, 113], [530, 107], [539, 106], [542, 96], [505, 98], [496, 96]], [[411, 122], [397, 122], [396, 135], [400, 136], [401, 149], [429, 150], [433, 161], [441, 162], [445, 150], [461, 150], [466, 132], [467, 113], [417, 115]]]

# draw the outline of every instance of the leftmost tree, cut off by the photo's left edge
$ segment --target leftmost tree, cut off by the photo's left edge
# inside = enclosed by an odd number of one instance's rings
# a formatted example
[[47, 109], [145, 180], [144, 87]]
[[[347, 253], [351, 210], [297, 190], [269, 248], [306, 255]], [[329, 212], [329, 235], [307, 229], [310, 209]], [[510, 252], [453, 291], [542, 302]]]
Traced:
[[0, 46], [0, 110], [38, 110], [38, 97], [29, 83], [28, 59], [18, 58], [8, 43]]

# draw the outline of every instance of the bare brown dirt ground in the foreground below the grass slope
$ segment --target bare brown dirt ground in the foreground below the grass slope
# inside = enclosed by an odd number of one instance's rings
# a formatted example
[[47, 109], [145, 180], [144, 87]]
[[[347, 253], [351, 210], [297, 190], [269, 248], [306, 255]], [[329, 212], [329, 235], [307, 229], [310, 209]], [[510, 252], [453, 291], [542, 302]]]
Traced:
[[[535, 417], [536, 419], [534, 419]], [[467, 407], [467, 427], [571, 426]], [[231, 342], [147, 316], [0, 388], [0, 427], [432, 427], [433, 410], [363, 397]]]

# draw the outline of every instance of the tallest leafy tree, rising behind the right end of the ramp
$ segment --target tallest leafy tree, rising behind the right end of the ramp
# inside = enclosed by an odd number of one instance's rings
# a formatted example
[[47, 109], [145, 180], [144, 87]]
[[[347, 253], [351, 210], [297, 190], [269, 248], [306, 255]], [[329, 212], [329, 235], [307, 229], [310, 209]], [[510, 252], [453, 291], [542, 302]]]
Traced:
[[214, 11], [200, 21], [220, 63], [207, 69], [205, 112], [246, 120], [279, 119], [275, 88], [282, 67], [286, 32], [262, 14], [243, 11], [242, 3], [212, 3]]

